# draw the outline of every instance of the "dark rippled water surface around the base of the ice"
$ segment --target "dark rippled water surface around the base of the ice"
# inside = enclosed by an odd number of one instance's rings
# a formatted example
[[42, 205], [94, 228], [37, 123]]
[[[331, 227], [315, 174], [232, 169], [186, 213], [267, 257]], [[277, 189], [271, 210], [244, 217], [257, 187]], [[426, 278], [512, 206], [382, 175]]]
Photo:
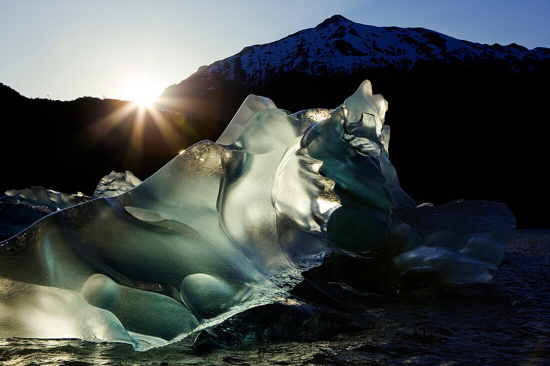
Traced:
[[489, 284], [374, 297], [366, 331], [323, 341], [195, 353], [193, 340], [145, 352], [78, 340], [0, 340], [0, 365], [550, 365], [550, 230], [518, 230]]

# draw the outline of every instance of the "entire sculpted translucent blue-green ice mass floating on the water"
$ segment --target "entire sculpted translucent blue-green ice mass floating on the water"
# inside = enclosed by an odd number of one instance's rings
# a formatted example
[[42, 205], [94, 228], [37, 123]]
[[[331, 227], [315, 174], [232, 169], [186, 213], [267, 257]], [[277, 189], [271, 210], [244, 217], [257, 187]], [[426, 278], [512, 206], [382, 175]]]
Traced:
[[360, 284], [373, 258], [403, 281], [490, 280], [515, 218], [485, 201], [417, 207], [389, 162], [386, 109], [368, 81], [334, 110], [251, 95], [217, 143], [144, 182], [112, 172], [93, 197], [6, 192], [2, 234], [20, 232], [0, 243], [0, 337], [143, 350], [267, 304], [311, 313], [316, 300], [291, 295], [305, 283], [342, 301], [334, 289]]

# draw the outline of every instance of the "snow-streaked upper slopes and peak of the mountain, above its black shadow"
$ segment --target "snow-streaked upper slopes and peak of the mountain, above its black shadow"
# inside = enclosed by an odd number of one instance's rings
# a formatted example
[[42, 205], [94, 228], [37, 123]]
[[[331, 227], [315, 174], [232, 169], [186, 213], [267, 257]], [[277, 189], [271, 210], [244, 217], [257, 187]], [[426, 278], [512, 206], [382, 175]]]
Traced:
[[410, 70], [420, 60], [498, 64], [516, 73], [532, 73], [550, 62], [550, 49], [483, 45], [424, 28], [376, 27], [334, 15], [316, 27], [202, 66], [194, 75], [166, 89], [184, 97], [216, 90], [223, 81], [262, 85], [273, 75], [349, 75], [365, 69]]

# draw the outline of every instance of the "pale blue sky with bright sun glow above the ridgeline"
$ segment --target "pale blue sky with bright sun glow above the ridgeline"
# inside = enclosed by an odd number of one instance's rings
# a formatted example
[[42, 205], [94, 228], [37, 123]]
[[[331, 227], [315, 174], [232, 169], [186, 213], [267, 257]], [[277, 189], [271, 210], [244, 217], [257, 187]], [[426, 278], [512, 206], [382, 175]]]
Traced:
[[334, 14], [480, 43], [550, 47], [548, 0], [0, 0], [0, 82], [26, 97], [133, 100]]

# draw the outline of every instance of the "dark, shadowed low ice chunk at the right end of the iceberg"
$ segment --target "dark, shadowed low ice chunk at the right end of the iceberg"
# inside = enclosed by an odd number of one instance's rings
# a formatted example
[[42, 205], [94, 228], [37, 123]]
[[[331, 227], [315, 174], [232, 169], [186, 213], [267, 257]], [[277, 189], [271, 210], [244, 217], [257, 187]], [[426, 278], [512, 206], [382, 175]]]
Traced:
[[491, 280], [515, 232], [505, 204], [451, 201], [392, 209], [379, 249], [408, 279], [463, 284]]

